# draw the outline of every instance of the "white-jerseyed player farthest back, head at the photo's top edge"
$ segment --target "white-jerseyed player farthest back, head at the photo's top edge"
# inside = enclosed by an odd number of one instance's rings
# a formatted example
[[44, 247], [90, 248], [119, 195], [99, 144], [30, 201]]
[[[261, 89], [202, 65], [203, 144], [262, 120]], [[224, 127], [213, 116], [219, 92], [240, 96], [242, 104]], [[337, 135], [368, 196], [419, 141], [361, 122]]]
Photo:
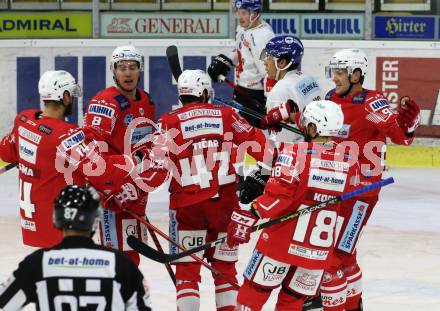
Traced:
[[[235, 48], [228, 56], [217, 55], [208, 68], [214, 81], [219, 75], [226, 76], [235, 67], [235, 80], [240, 91], [234, 91], [234, 100], [240, 104], [265, 113], [263, 80], [266, 75], [261, 51], [273, 38], [272, 27], [261, 19], [262, 0], [235, 0], [239, 25], [235, 36]], [[259, 126], [259, 120], [242, 115], [252, 125]]]

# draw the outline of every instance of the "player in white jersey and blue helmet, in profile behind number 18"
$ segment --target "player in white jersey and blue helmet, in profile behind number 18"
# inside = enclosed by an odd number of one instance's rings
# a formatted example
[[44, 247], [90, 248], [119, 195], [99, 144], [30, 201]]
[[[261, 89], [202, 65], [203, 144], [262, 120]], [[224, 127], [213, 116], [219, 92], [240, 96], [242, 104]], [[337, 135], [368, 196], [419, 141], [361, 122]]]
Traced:
[[261, 121], [263, 128], [271, 129], [271, 139], [276, 142], [295, 142], [302, 136], [287, 130], [279, 131], [276, 124], [280, 121], [297, 123], [296, 112], [313, 100], [323, 96], [318, 82], [312, 76], [301, 71], [304, 46], [295, 36], [277, 36], [272, 38], [262, 51], [261, 59], [267, 71], [267, 79], [277, 81], [267, 94], [266, 116]]

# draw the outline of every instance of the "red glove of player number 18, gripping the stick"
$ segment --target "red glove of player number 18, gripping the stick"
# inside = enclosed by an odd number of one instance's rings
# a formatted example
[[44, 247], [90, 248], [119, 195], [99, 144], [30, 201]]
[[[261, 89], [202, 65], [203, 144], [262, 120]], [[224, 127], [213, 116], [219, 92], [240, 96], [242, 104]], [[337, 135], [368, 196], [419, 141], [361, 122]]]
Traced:
[[231, 215], [228, 225], [226, 243], [230, 248], [236, 244], [247, 243], [251, 239], [251, 227], [258, 221], [258, 217], [251, 211], [236, 210]]

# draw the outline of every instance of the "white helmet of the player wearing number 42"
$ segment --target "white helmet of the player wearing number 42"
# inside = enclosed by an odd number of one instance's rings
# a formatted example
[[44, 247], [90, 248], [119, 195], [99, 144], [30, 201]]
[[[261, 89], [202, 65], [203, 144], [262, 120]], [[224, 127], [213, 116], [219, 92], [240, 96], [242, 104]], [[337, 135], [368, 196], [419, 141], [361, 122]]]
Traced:
[[179, 96], [191, 95], [200, 97], [203, 91], [207, 90], [211, 98], [213, 96], [212, 81], [209, 75], [203, 70], [185, 70], [177, 81], [177, 92]]

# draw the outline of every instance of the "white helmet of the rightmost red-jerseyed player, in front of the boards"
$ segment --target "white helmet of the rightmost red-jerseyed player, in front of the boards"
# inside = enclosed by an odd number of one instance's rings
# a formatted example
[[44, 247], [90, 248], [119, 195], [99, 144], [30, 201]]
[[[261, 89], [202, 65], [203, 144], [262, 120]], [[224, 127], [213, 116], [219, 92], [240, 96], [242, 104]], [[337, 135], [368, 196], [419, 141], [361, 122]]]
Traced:
[[332, 77], [333, 69], [347, 69], [348, 75], [351, 75], [355, 69], [360, 69], [361, 75], [365, 76], [368, 69], [367, 55], [359, 49], [337, 51], [330, 59], [328, 66], [325, 67], [327, 78]]

